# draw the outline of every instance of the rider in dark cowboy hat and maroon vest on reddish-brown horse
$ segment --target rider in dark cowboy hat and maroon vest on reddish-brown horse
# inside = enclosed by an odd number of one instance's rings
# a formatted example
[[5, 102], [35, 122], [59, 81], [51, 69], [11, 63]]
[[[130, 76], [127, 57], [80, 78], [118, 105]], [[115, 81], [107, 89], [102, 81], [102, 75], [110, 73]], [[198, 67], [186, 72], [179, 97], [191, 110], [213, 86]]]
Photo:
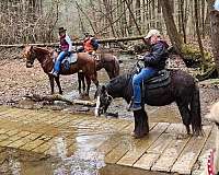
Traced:
[[60, 52], [56, 59], [54, 69], [51, 70], [50, 74], [53, 74], [54, 77], [58, 77], [59, 72], [60, 72], [60, 68], [61, 68], [61, 61], [65, 59], [65, 57], [70, 56], [71, 55], [71, 49], [72, 49], [72, 42], [70, 39], [70, 37], [67, 35], [66, 33], [67, 30], [65, 30], [64, 27], [59, 27], [59, 39], [60, 39]]

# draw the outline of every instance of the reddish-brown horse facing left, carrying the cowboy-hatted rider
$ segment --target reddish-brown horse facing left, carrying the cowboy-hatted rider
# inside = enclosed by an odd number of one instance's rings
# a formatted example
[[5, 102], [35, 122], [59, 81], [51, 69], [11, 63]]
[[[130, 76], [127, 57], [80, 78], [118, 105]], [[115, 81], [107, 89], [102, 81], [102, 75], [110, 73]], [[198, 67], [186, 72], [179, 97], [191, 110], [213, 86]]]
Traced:
[[[49, 73], [54, 68], [54, 58], [56, 58], [57, 56], [58, 56], [58, 52], [56, 52], [51, 48], [48, 49], [48, 48], [42, 48], [42, 47], [26, 46], [23, 49], [23, 57], [26, 58], [26, 68], [33, 67], [35, 59], [39, 61], [44, 72], [49, 78], [51, 94], [54, 94], [54, 79], [58, 85], [59, 94], [62, 94], [59, 77], [55, 78]], [[79, 52], [77, 62], [71, 63], [68, 70], [66, 70], [65, 67], [61, 65], [60, 74], [73, 74], [79, 71], [82, 71], [87, 78], [87, 83], [89, 84], [87, 89], [87, 93], [89, 95], [91, 80], [94, 82], [96, 88], [99, 86], [99, 81], [97, 81], [97, 73], [96, 73], [96, 63], [85, 52]]]

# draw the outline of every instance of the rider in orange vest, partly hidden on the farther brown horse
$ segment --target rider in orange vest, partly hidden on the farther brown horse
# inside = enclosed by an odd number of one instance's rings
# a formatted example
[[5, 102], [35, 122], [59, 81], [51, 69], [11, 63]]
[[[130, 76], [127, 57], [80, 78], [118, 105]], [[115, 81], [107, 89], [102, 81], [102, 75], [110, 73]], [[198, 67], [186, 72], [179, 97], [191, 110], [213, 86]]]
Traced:
[[85, 37], [83, 39], [83, 47], [79, 48], [79, 52], [84, 51], [90, 55], [95, 55], [95, 51], [99, 49], [99, 42], [88, 32], [84, 33]]

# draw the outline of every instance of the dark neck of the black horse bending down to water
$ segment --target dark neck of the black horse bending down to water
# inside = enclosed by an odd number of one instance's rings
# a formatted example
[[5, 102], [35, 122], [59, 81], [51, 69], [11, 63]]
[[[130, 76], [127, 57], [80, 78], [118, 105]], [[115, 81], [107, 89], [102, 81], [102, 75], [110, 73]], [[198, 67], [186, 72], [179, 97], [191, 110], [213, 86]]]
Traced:
[[[118, 83], [114, 83], [116, 79], [122, 79]], [[106, 85], [107, 93], [113, 97], [123, 97], [126, 102], [130, 102], [132, 94], [132, 86], [130, 83], [130, 77], [128, 74], [116, 77]]]

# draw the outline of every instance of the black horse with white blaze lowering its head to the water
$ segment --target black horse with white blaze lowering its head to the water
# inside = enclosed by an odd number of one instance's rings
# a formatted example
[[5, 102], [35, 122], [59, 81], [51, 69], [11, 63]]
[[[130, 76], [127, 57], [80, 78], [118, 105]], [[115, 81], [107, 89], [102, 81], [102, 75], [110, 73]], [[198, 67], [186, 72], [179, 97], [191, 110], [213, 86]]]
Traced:
[[[123, 97], [127, 103], [131, 101], [132, 75], [131, 73], [118, 75], [111, 80], [106, 86], [100, 88], [95, 108], [96, 116], [107, 110], [113, 98]], [[193, 133], [195, 136], [201, 135], [199, 90], [195, 79], [182, 70], [170, 70], [170, 75], [171, 83], [166, 86], [146, 89], [145, 103], [151, 106], [164, 106], [176, 102], [187, 133], [191, 133], [189, 125], [192, 125]], [[136, 138], [141, 138], [149, 132], [145, 104], [141, 104], [141, 109], [134, 112], [134, 133]]]

